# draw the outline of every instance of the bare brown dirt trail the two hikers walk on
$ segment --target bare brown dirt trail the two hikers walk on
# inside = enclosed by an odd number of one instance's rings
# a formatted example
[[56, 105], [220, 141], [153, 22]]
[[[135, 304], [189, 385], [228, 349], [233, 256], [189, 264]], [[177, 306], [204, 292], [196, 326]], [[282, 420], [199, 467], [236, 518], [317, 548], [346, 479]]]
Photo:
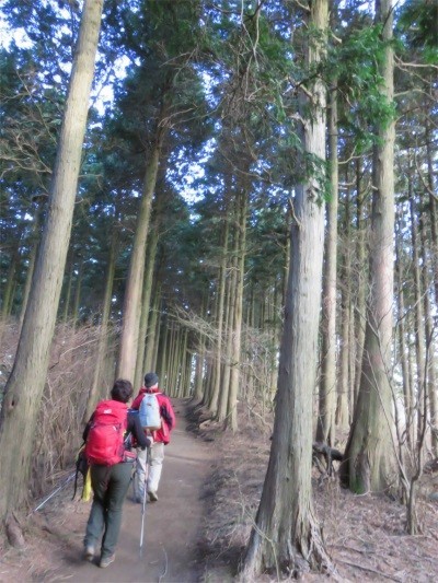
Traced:
[[[205, 515], [203, 487], [210, 471], [211, 450], [186, 432], [184, 400], [172, 399], [177, 424], [165, 448], [159, 501], [148, 503], [145, 514], [143, 552], [140, 556], [141, 504], [131, 500], [131, 487], [124, 506], [116, 560], [106, 569], [82, 560], [82, 537], [90, 505], [72, 522], [64, 545], [61, 564], [39, 581], [117, 583], [195, 583], [203, 565], [197, 562], [197, 543]], [[68, 525], [67, 525], [68, 526]], [[67, 528], [66, 528], [67, 529]], [[66, 530], [65, 529], [65, 530]]]

